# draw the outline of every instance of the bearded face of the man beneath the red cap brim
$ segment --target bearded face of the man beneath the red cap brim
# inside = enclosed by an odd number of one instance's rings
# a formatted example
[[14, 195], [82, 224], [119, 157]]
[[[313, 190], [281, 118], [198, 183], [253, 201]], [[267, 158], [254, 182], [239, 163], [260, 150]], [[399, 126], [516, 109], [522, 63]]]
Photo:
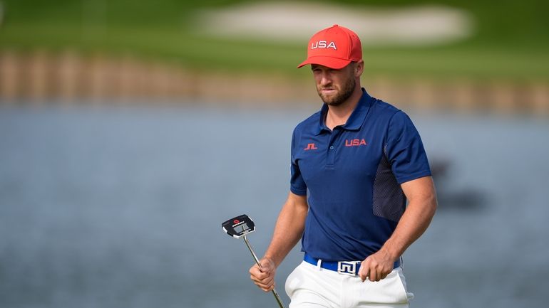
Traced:
[[319, 64], [311, 65], [317, 92], [324, 103], [339, 106], [351, 97], [356, 87], [355, 68], [354, 62], [340, 70]]

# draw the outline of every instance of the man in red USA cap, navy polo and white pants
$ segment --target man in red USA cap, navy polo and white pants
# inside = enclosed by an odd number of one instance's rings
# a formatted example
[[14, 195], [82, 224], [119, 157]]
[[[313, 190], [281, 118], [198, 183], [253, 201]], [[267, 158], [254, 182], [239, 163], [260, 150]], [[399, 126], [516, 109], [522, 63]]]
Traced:
[[286, 281], [290, 308], [408, 307], [414, 295], [401, 255], [436, 211], [419, 134], [404, 112], [361, 88], [353, 31], [334, 25], [314, 34], [298, 68], [307, 64], [324, 105], [294, 129], [289, 196], [251, 279], [272, 290], [301, 238], [304, 261]]

